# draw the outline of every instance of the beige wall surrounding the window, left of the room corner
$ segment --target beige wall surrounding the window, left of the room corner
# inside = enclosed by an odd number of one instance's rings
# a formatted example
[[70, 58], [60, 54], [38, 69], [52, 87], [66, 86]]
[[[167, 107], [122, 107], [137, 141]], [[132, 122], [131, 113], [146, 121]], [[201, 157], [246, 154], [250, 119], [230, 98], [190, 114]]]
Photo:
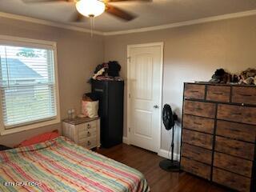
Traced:
[[[82, 94], [90, 91], [86, 83], [94, 67], [103, 62], [103, 38], [73, 30], [43, 26], [30, 22], [0, 18], [0, 34], [35, 38], [57, 42], [58, 82], [60, 90], [61, 118], [66, 110], [80, 110]], [[0, 144], [12, 146], [38, 133], [60, 129], [61, 124], [29, 130], [18, 134], [0, 136]]]

